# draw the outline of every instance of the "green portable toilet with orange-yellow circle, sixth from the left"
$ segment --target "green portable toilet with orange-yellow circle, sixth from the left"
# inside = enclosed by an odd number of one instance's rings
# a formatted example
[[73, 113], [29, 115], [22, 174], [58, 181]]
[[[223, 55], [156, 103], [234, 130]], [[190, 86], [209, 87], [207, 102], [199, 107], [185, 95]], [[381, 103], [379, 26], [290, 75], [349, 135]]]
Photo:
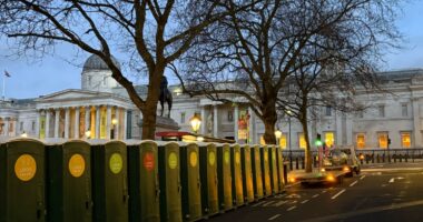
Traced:
[[179, 142], [180, 181], [183, 184], [183, 220], [201, 219], [201, 182], [199, 178], [199, 151], [196, 143]]

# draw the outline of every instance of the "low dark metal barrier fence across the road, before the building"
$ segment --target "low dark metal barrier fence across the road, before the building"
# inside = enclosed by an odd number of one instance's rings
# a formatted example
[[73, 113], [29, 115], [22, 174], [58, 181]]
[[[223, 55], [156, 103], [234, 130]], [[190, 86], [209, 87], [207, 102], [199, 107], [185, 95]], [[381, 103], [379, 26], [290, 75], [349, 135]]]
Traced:
[[[415, 162], [423, 160], [423, 149], [366, 149], [355, 150], [361, 164], [371, 163], [401, 163], [401, 162]], [[289, 170], [299, 170], [305, 168], [305, 152], [304, 150], [284, 150], [283, 155], [288, 162]], [[312, 150], [313, 167], [318, 164], [318, 151]]]

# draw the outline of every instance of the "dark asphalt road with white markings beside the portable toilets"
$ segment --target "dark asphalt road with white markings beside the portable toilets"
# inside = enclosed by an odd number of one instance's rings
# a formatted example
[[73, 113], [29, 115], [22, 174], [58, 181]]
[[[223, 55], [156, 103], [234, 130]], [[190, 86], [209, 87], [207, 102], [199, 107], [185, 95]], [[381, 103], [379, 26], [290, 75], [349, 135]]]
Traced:
[[423, 221], [423, 163], [374, 164], [343, 184], [299, 184], [208, 221]]

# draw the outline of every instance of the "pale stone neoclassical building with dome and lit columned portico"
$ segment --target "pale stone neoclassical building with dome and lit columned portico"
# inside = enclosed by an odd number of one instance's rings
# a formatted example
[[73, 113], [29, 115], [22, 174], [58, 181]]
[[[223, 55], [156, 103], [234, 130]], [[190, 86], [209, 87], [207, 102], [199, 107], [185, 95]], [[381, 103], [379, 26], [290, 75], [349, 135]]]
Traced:
[[[118, 62], [115, 61], [117, 64]], [[313, 140], [317, 133], [326, 144], [358, 149], [423, 147], [423, 69], [382, 73], [386, 93], [362, 93], [357, 100], [368, 109], [361, 113], [341, 113], [321, 108], [311, 121]], [[138, 85], [142, 94], [145, 85]], [[206, 98], [189, 98], [177, 85], [170, 87], [174, 107], [170, 118], [180, 131], [191, 131], [189, 119], [201, 117], [199, 133], [235, 139], [239, 143], [263, 142], [264, 125], [245, 103], [220, 103]], [[159, 108], [160, 109], [160, 108]], [[97, 56], [83, 64], [81, 89], [67, 89], [36, 99], [0, 101], [0, 137], [65, 139], [139, 139], [141, 114], [127, 92], [111, 78]], [[305, 147], [302, 127], [295, 119], [281, 119], [281, 147]]]

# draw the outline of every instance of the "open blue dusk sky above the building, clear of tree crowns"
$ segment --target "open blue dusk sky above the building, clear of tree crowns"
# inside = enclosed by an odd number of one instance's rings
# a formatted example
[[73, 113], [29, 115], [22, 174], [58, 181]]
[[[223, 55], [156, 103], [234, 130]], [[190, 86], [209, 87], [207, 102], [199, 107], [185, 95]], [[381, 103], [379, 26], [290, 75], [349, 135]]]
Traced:
[[[397, 26], [405, 37], [403, 49], [385, 56], [384, 70], [423, 68], [423, 2], [406, 3], [400, 14]], [[42, 61], [28, 58], [12, 60], [6, 54], [10, 50], [0, 43], [1, 91], [7, 70], [11, 78], [6, 79], [7, 98], [38, 98], [66, 89], [80, 89], [80, 74], [88, 53], [79, 53], [70, 46], [58, 46], [55, 57], [47, 56]], [[117, 58], [119, 60], [119, 58]], [[168, 79], [175, 79], [167, 74]]]

